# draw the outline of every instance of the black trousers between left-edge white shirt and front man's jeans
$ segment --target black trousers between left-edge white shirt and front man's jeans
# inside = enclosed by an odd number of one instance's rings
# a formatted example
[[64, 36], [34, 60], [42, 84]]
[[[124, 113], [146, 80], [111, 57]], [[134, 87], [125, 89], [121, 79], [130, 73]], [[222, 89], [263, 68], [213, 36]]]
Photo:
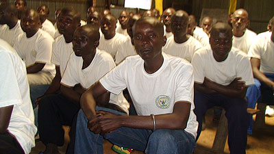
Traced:
[[80, 109], [79, 103], [62, 94], [49, 94], [39, 103], [38, 129], [40, 140], [62, 146], [64, 144], [64, 129], [62, 125], [71, 126], [73, 118]]

